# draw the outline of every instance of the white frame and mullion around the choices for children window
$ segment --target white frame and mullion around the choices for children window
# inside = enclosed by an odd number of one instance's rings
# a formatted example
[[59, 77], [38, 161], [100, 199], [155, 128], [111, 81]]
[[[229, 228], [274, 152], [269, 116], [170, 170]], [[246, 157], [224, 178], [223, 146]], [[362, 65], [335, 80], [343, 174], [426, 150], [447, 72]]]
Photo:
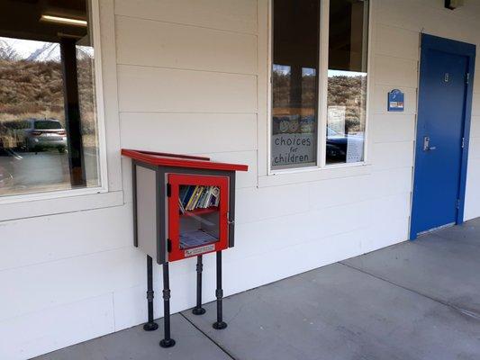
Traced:
[[368, 163], [368, 133], [370, 119], [370, 95], [372, 83], [372, 31], [373, 31], [373, 3], [368, 1], [368, 37], [367, 37], [367, 108], [365, 112], [365, 135], [364, 135], [364, 157], [363, 161], [356, 163], [326, 163], [327, 150], [327, 113], [328, 113], [328, 69], [329, 69], [329, 32], [330, 32], [330, 2], [331, 0], [320, 0], [320, 54], [319, 54], [319, 89], [318, 89], [318, 119], [317, 119], [317, 161], [315, 166], [292, 166], [289, 168], [272, 168], [272, 67], [273, 67], [273, 2], [268, 0], [267, 19], [267, 175], [282, 175], [293, 173], [305, 173], [317, 170], [335, 169], [344, 167], [367, 166]]

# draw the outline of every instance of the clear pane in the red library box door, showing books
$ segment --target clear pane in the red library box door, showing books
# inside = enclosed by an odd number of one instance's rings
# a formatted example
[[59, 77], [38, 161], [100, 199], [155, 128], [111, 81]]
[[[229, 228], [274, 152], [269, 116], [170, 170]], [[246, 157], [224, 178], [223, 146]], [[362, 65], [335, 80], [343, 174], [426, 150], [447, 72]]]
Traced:
[[219, 241], [220, 188], [208, 185], [180, 185], [180, 248], [200, 247]]

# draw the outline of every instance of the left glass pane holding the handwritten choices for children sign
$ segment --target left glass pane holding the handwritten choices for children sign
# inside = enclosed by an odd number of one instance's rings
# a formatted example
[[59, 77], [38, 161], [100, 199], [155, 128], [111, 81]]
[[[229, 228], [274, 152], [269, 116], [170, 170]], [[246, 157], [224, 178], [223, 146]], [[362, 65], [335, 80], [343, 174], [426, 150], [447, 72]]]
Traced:
[[273, 1], [274, 169], [317, 163], [320, 0]]

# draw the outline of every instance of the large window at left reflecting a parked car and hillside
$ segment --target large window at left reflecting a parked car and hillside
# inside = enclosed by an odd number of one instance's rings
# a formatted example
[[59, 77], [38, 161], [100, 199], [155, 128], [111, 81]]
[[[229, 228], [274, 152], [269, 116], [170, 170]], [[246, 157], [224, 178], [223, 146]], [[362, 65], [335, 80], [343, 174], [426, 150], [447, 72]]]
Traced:
[[0, 0], [0, 196], [101, 185], [86, 0]]

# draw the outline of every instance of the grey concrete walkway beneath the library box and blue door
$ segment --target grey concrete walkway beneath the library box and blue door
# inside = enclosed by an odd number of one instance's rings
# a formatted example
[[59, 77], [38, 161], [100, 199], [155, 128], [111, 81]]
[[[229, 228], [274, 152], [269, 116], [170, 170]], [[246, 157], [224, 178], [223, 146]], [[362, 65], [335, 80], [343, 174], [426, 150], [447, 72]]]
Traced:
[[480, 359], [480, 220], [224, 300], [229, 327], [172, 317], [177, 346], [140, 327], [37, 360]]

